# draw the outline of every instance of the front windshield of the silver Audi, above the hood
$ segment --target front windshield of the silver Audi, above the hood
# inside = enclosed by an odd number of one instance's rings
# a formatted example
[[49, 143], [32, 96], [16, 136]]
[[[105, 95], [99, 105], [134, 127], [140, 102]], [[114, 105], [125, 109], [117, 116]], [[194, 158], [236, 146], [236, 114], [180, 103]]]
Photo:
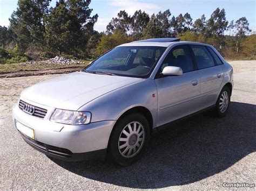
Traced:
[[104, 75], [146, 77], [165, 49], [158, 46], [116, 47], [100, 56], [84, 71]]

